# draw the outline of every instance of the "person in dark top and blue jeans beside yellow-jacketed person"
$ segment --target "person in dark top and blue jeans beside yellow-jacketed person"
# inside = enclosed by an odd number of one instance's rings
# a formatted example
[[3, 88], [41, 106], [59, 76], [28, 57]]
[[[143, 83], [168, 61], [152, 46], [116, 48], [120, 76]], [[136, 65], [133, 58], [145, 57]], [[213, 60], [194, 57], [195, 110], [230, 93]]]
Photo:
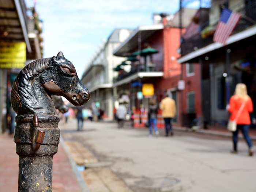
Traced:
[[149, 135], [152, 136], [152, 124], [154, 126], [155, 135], [159, 135], [157, 129], [157, 102], [155, 99], [151, 99], [149, 103], [148, 117], [149, 117]]

